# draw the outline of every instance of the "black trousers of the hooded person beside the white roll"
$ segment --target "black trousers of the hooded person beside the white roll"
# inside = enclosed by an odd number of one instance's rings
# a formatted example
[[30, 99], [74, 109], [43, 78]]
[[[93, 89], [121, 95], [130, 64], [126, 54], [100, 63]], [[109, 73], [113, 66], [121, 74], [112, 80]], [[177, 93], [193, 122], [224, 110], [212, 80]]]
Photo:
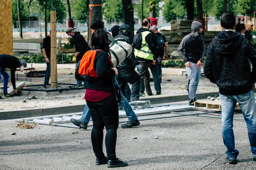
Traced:
[[[118, 75], [116, 76], [116, 80], [119, 84], [119, 87], [122, 91], [122, 94], [125, 94], [125, 98], [130, 101], [139, 100], [140, 98], [140, 75], [132, 68], [117, 68]], [[130, 83], [131, 86], [131, 99], [126, 94], [127, 83]]]

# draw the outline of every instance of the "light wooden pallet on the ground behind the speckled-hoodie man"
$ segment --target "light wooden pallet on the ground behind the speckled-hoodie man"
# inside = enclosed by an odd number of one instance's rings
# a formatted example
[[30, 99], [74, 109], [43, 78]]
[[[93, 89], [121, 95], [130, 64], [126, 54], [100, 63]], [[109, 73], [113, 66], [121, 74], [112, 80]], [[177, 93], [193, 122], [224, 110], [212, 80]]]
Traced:
[[[213, 111], [221, 111], [221, 101], [196, 101], [194, 102], [195, 108], [208, 109]], [[240, 107], [236, 103], [236, 110], [239, 110]]]

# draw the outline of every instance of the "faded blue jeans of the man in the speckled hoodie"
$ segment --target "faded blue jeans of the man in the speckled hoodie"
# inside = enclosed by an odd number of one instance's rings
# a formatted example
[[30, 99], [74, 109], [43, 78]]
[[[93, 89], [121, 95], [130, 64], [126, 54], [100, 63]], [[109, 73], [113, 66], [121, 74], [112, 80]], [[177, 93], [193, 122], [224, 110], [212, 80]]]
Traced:
[[221, 120], [222, 137], [227, 147], [227, 156], [229, 159], [236, 159], [239, 151], [235, 149], [235, 138], [233, 132], [233, 115], [236, 102], [239, 103], [244, 120], [247, 125], [247, 131], [251, 146], [251, 152], [256, 156], [256, 105], [253, 90], [246, 94], [224, 96], [220, 94], [221, 99]]

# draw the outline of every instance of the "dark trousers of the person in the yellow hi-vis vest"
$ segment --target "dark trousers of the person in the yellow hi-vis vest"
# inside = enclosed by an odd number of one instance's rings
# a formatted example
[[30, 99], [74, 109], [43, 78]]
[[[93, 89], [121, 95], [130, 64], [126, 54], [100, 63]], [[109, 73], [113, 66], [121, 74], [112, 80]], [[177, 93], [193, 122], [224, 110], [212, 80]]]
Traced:
[[[153, 80], [154, 80], [154, 89], [157, 92], [157, 94], [160, 94], [161, 93], [161, 82], [160, 82], [159, 73], [158, 73], [158, 61], [156, 60], [156, 64], [155, 65], [150, 63], [149, 68], [151, 70], [151, 73], [152, 73], [152, 76], [153, 76]], [[146, 88], [146, 93], [148, 95], [152, 94], [149, 80], [150, 80], [150, 73], [149, 73], [149, 71], [147, 69], [145, 71], [144, 81], [140, 85], [140, 92], [141, 93], [143, 93], [145, 91], [145, 88]]]

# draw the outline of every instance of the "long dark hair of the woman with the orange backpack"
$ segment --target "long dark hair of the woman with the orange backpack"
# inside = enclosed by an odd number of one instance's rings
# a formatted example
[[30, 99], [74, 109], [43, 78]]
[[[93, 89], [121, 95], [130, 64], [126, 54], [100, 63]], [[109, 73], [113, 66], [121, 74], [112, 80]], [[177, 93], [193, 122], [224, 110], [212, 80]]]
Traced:
[[92, 34], [92, 46], [98, 46], [111, 56], [108, 47], [108, 34], [104, 29], [97, 29]]

